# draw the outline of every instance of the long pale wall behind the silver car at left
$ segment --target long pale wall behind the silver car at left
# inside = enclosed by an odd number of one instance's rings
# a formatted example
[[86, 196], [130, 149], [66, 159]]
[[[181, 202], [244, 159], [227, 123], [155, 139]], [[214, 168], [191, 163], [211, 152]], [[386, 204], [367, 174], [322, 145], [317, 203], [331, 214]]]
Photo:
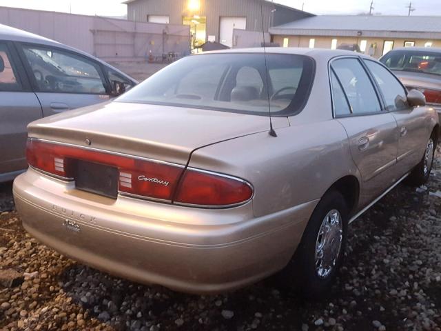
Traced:
[[[150, 50], [185, 55], [189, 52], [189, 27], [135, 23], [85, 15], [0, 7], [0, 23], [26, 30], [78, 48], [107, 60], [145, 59]], [[164, 38], [163, 31], [167, 32]]]

